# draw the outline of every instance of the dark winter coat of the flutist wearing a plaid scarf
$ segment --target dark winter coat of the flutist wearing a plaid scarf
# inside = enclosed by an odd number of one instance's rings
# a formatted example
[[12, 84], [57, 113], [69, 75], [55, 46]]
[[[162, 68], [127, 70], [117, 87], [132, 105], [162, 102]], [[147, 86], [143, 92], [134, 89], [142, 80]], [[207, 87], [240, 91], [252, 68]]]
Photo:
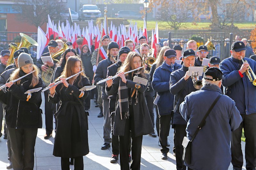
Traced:
[[[141, 75], [137, 75], [138, 77], [141, 77]], [[147, 79], [149, 80], [149, 74], [147, 74]], [[117, 93], [118, 87], [119, 87], [119, 81], [120, 77], [117, 77], [113, 80], [113, 85], [108, 88], [106, 86], [106, 93], [108, 95], [113, 95]], [[127, 80], [126, 87], [131, 88], [132, 91], [135, 88], [135, 82], [132, 80]], [[135, 137], [141, 136], [141, 135], [148, 135], [149, 133], [154, 132], [153, 124], [148, 112], [148, 106], [145, 101], [144, 92], [146, 91], [148, 85], [140, 85], [140, 88], [138, 89], [138, 103], [132, 104], [133, 109], [133, 115], [134, 115], [134, 127], [131, 127], [131, 129], [134, 130]], [[129, 91], [129, 89], [128, 89]], [[131, 94], [128, 94], [131, 95]], [[118, 95], [117, 95], [118, 98]], [[114, 118], [114, 127], [113, 127], [113, 134], [116, 136], [124, 136], [124, 127], [125, 127], [126, 119], [121, 120], [120, 115], [120, 108], [119, 108], [119, 102], [117, 102], [116, 110], [115, 110], [115, 118]]]

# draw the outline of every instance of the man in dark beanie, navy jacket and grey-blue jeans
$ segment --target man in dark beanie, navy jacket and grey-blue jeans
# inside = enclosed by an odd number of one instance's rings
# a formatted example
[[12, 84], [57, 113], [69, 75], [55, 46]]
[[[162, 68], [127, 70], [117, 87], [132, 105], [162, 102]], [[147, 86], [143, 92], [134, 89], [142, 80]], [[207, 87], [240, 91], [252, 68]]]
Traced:
[[[107, 51], [108, 58], [100, 61], [95, 71], [95, 76], [94, 76], [95, 83], [107, 78], [108, 66], [116, 62], [118, 51], [119, 51], [119, 45], [116, 42], [111, 41], [108, 44], [108, 51]], [[103, 106], [103, 115], [104, 115], [104, 126], [103, 126], [104, 144], [101, 146], [101, 149], [104, 150], [104, 149], [108, 149], [111, 143], [111, 137], [110, 137], [111, 119], [109, 118], [109, 110], [108, 110], [109, 99], [108, 99], [108, 95], [105, 92], [105, 82], [101, 83], [100, 86], [101, 86], [101, 94], [102, 94], [101, 98], [103, 100], [102, 106]]]

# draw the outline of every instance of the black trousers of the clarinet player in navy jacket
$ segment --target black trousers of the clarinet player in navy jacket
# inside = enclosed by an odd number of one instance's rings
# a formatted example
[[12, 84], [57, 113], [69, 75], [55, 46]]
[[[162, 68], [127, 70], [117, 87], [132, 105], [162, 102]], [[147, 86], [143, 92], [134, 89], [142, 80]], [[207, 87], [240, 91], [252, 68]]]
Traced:
[[167, 137], [170, 131], [170, 123], [171, 123], [171, 114], [160, 116], [160, 131], [159, 131], [159, 139], [162, 146], [161, 152], [168, 153], [169, 148], [167, 148]]

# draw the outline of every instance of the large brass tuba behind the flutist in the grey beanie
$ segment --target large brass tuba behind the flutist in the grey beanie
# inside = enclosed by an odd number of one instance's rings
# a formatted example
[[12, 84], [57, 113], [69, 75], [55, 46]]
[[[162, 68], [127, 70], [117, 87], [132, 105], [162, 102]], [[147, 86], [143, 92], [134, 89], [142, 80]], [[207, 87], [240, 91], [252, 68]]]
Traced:
[[29, 37], [28, 35], [26, 35], [24, 33], [20, 33], [20, 36], [21, 36], [21, 40], [20, 40], [19, 47], [15, 47], [15, 46], [11, 45], [10, 57], [8, 58], [6, 66], [14, 63], [13, 54], [15, 51], [17, 51], [21, 47], [28, 48], [28, 50], [29, 50], [29, 48], [31, 48], [32, 46], [38, 46], [38, 43], [33, 38]]

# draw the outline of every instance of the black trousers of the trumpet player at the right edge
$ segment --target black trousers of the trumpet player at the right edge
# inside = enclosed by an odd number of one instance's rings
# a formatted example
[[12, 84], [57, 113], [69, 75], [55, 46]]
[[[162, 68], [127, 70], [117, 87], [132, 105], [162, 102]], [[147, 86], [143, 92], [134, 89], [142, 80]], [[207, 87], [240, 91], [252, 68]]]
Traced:
[[241, 114], [243, 122], [239, 128], [231, 133], [231, 163], [238, 170], [243, 166], [243, 153], [241, 148], [242, 129], [244, 128], [246, 169], [256, 166], [256, 114]]

